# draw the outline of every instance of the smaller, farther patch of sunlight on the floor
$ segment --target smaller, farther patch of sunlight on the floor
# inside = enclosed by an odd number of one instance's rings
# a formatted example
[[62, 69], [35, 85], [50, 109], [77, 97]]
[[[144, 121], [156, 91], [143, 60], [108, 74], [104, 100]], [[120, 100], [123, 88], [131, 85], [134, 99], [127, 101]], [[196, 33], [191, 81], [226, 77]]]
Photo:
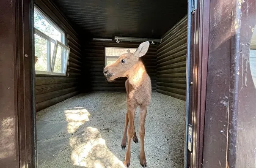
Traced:
[[65, 110], [68, 133], [74, 133], [80, 125], [89, 121], [89, 116], [90, 113], [86, 109]]

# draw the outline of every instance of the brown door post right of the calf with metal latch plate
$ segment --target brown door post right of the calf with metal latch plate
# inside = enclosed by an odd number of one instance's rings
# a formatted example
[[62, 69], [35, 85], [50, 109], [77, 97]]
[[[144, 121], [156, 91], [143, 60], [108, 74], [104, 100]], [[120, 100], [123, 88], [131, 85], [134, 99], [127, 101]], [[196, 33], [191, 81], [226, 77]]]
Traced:
[[188, 0], [184, 168], [201, 168], [209, 48], [208, 0]]

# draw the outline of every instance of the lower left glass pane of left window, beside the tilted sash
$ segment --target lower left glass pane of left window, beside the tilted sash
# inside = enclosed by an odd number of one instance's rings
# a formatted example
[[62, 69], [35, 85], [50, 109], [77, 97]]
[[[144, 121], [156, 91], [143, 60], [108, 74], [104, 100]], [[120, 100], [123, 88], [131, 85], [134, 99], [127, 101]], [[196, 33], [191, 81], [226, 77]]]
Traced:
[[47, 71], [47, 40], [35, 34], [35, 55], [38, 57], [36, 70]]

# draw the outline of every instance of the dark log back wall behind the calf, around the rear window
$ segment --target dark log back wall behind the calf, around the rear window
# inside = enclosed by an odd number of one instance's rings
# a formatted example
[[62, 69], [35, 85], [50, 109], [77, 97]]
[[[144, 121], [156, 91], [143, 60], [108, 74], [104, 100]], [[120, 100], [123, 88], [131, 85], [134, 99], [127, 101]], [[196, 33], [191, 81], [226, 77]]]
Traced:
[[[84, 51], [84, 75], [83, 84], [85, 84], [84, 92], [125, 92], [125, 80], [117, 79], [111, 83], [106, 81], [103, 75], [103, 68], [105, 66], [105, 47], [124, 47], [124, 48], [138, 48], [140, 43], [127, 43], [127, 42], [102, 42], [91, 41], [85, 43], [83, 46]], [[156, 90], [156, 45], [150, 45], [149, 50], [141, 57], [147, 73], [151, 78], [152, 91]]]

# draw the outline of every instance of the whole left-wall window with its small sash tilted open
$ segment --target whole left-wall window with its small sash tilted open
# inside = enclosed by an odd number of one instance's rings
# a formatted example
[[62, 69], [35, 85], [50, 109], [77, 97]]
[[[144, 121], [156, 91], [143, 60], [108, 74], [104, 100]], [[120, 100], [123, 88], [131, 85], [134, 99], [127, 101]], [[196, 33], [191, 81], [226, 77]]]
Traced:
[[65, 33], [36, 7], [34, 29], [36, 73], [66, 75], [70, 49]]

